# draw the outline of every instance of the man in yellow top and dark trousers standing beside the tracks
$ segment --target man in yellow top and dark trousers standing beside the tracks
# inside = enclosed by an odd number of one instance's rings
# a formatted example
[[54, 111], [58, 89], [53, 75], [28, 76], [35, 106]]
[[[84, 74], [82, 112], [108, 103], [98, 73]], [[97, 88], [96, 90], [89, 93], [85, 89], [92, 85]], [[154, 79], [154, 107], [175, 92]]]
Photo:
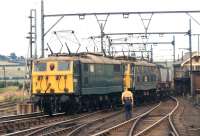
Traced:
[[127, 88], [122, 93], [122, 104], [125, 108], [125, 117], [126, 120], [132, 117], [132, 107], [133, 107], [133, 94]]

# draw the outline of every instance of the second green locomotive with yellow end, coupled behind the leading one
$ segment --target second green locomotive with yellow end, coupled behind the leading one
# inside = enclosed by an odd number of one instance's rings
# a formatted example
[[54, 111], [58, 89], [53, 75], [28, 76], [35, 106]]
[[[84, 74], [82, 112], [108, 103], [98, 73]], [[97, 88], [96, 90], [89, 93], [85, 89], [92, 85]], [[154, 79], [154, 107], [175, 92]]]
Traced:
[[128, 61], [125, 65], [125, 87], [133, 92], [135, 104], [155, 101], [157, 97], [159, 69], [146, 61]]

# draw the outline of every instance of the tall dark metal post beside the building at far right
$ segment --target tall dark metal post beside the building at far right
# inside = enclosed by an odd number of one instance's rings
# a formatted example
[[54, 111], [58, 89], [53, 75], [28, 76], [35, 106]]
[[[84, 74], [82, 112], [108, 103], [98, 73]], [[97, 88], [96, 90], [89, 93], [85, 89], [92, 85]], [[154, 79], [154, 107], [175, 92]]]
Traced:
[[193, 76], [192, 76], [192, 35], [191, 35], [191, 19], [189, 20], [189, 31], [188, 31], [188, 36], [189, 36], [189, 52], [190, 52], [190, 92], [192, 98], [194, 98], [194, 90], [193, 90]]

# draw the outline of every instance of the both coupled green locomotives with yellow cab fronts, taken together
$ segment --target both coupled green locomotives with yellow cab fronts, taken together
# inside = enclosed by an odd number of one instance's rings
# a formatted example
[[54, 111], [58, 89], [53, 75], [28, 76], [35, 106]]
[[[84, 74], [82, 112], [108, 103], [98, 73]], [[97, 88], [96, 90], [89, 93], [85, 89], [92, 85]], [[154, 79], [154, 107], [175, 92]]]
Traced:
[[166, 92], [161, 68], [133, 58], [55, 54], [34, 60], [32, 67], [33, 102], [48, 114], [115, 107], [124, 89], [133, 92], [135, 104]]

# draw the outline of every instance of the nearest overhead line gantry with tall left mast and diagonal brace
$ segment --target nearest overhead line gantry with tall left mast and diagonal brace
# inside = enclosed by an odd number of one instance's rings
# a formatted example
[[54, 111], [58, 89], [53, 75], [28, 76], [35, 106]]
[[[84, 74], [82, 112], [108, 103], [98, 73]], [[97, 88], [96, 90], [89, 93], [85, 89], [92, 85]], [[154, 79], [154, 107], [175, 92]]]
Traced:
[[[147, 29], [149, 27], [150, 20], [152, 19], [152, 15], [154, 14], [187, 14], [189, 15], [195, 22], [199, 23], [194, 17], [191, 16], [191, 13], [200, 13], [200, 10], [174, 10], [174, 11], [130, 11], [130, 12], [92, 12], [92, 13], [71, 13], [71, 14], [44, 14], [44, 2], [43, 0], [41, 1], [41, 57], [44, 57], [44, 37], [46, 34], [54, 27], [56, 26], [65, 16], [78, 16], [80, 19], [84, 19], [85, 16], [95, 16], [97, 19], [97, 22], [100, 27], [101, 31], [101, 51], [103, 52], [103, 37], [106, 35], [104, 33], [105, 25], [108, 20], [108, 17], [111, 15], [123, 15], [124, 18], [128, 18], [129, 15], [132, 14], [137, 14], [137, 15], [142, 15], [142, 14], [149, 14], [151, 15], [148, 26], [145, 27], [145, 34], [148, 34]], [[98, 19], [99, 15], [106, 15], [106, 18], [104, 20]], [[45, 21], [44, 19], [47, 17], [59, 17], [59, 19], [47, 30], [45, 31], [44, 29], [44, 24]], [[141, 18], [142, 19], [142, 18]], [[102, 21], [103, 23], [101, 23]], [[167, 32], [168, 34], [170, 32]], [[172, 34], [183, 34], [184, 32], [172, 32]], [[152, 33], [153, 34], [153, 33]], [[165, 34], [165, 32], [161, 33]], [[185, 33], [184, 33], [185, 34]], [[107, 34], [108, 35], [108, 34]], [[111, 35], [111, 34], [110, 34]]]

